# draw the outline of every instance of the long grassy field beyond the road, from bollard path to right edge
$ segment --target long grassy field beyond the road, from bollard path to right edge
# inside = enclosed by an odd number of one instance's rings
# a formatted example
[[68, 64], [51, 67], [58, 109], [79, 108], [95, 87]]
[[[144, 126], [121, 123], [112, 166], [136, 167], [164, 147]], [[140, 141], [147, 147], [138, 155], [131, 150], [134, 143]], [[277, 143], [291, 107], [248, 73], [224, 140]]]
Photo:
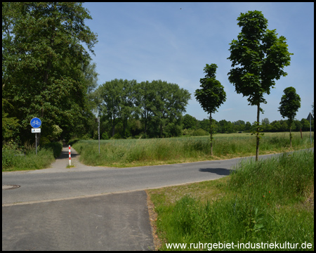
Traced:
[[[268, 133], [260, 141], [259, 155], [283, 153], [290, 150], [311, 148], [309, 133], [294, 133], [292, 149], [289, 133]], [[312, 133], [313, 138], [313, 133]], [[136, 167], [154, 164], [173, 164], [204, 160], [223, 160], [255, 155], [256, 138], [249, 133], [216, 134], [213, 156], [210, 138], [160, 138], [100, 141], [77, 141], [72, 147], [81, 155], [81, 162], [91, 166]]]

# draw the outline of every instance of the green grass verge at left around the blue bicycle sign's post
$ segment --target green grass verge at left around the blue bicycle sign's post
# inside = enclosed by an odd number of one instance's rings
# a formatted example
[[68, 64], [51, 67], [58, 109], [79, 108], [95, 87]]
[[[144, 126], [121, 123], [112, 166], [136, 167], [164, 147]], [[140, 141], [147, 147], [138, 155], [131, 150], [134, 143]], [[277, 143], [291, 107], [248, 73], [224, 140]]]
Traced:
[[44, 169], [49, 167], [62, 150], [62, 143], [55, 142], [39, 147], [28, 146], [25, 150], [2, 149], [2, 171]]

